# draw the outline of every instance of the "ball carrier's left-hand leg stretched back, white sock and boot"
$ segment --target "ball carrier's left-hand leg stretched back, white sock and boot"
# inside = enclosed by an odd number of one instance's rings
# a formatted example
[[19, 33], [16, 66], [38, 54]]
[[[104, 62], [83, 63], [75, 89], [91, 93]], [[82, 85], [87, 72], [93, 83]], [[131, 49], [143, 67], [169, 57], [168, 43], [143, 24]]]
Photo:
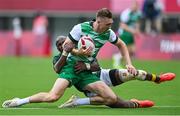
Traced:
[[28, 103], [54, 102], [57, 101], [68, 87], [69, 81], [58, 78], [50, 92], [40, 92], [23, 99], [6, 100], [2, 107], [17, 107]]

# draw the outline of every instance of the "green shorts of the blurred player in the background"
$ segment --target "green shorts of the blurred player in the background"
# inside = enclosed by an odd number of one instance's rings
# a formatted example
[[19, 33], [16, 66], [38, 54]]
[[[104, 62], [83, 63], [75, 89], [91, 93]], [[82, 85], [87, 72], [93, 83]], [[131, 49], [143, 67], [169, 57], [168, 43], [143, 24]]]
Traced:
[[126, 45], [134, 44], [134, 37], [129, 32], [124, 31], [119, 37], [124, 41]]

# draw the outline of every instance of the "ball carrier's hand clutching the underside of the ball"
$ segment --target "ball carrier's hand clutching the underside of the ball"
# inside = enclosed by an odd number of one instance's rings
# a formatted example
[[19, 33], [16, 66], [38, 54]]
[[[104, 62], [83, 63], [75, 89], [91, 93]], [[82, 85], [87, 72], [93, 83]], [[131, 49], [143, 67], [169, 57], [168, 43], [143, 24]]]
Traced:
[[85, 46], [82, 46], [80, 49], [79, 49], [79, 55], [80, 56], [91, 56], [91, 54], [92, 54], [92, 49], [93, 48], [91, 48], [91, 47], [88, 47], [88, 48], [86, 48]]

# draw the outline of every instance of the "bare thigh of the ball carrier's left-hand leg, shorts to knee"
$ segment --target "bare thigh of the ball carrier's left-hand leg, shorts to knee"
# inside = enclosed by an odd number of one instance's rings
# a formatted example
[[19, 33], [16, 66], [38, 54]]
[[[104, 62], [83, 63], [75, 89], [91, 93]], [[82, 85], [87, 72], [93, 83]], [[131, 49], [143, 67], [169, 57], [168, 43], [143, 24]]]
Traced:
[[63, 78], [57, 78], [50, 92], [55, 95], [62, 95], [68, 86], [69, 86], [68, 80]]

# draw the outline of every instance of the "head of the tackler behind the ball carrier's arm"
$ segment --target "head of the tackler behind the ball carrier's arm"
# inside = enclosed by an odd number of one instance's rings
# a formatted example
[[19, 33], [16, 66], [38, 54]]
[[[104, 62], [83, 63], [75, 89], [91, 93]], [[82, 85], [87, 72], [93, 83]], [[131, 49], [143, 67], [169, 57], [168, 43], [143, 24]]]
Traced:
[[64, 41], [66, 40], [65, 36], [58, 36], [56, 39], [56, 48], [62, 52], [63, 48], [62, 48], [62, 44], [64, 43]]

